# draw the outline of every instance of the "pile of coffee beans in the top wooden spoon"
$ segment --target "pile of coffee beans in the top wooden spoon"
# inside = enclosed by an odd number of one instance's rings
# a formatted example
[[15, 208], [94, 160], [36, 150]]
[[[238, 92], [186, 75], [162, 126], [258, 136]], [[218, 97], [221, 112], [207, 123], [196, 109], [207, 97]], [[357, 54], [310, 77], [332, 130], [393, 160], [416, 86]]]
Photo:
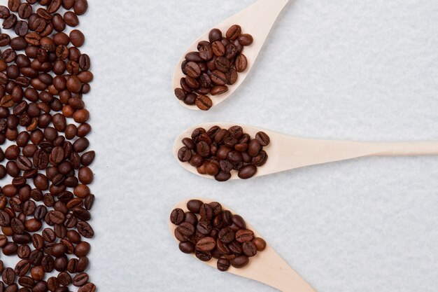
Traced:
[[196, 104], [208, 111], [213, 102], [207, 95], [221, 95], [228, 91], [227, 85], [237, 81], [237, 75], [246, 70], [248, 60], [243, 55], [243, 47], [253, 43], [253, 36], [242, 34], [239, 25], [233, 25], [222, 36], [220, 29], [212, 29], [209, 41], [200, 41], [197, 52], [185, 55], [181, 69], [181, 88], [175, 95], [185, 104]]

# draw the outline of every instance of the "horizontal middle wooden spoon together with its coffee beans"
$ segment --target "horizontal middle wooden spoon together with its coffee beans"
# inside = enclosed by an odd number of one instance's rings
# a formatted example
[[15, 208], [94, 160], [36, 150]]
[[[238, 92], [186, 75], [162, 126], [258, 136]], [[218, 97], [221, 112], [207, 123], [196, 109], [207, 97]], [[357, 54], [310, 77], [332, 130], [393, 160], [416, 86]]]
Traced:
[[367, 156], [438, 155], [438, 141], [309, 139], [248, 125], [205, 123], [182, 132], [173, 151], [189, 172], [228, 181]]

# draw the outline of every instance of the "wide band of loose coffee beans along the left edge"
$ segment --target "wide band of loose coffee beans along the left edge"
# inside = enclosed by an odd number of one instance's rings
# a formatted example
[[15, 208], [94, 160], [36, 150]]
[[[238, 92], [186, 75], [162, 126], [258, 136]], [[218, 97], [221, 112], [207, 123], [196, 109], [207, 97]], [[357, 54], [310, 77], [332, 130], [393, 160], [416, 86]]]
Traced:
[[0, 291], [96, 290], [85, 273], [95, 154], [83, 95], [93, 75], [79, 49], [85, 36], [72, 29], [86, 11], [87, 0], [0, 6], [8, 29], [0, 34], [0, 179], [9, 182], [0, 188], [0, 248], [20, 258], [15, 267], [0, 260]]

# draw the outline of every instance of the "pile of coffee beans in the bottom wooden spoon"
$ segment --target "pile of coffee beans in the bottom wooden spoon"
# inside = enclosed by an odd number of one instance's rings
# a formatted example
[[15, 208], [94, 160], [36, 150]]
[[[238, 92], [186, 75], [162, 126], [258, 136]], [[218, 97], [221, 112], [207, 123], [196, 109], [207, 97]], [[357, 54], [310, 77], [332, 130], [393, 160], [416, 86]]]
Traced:
[[218, 202], [190, 200], [187, 209], [174, 209], [170, 215], [178, 225], [174, 234], [183, 253], [195, 253], [203, 261], [216, 258], [218, 270], [225, 272], [230, 265], [245, 267], [250, 257], [266, 248], [264, 239], [246, 229], [241, 216], [222, 209]]

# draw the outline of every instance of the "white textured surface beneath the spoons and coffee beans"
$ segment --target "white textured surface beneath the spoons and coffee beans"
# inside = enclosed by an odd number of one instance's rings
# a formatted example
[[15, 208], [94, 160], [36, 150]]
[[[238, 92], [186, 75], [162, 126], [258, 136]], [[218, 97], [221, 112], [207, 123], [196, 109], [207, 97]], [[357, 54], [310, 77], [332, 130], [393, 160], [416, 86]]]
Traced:
[[[92, 190], [99, 291], [274, 291], [178, 250], [171, 207], [191, 196], [250, 221], [320, 292], [435, 292], [438, 158], [366, 158], [250, 181], [184, 172], [174, 137], [224, 120], [303, 137], [438, 140], [437, 1], [291, 1], [236, 95], [176, 102], [172, 70], [243, 1], [90, 1], [80, 19], [94, 82]], [[205, 15], [205, 16], [204, 16]]]

